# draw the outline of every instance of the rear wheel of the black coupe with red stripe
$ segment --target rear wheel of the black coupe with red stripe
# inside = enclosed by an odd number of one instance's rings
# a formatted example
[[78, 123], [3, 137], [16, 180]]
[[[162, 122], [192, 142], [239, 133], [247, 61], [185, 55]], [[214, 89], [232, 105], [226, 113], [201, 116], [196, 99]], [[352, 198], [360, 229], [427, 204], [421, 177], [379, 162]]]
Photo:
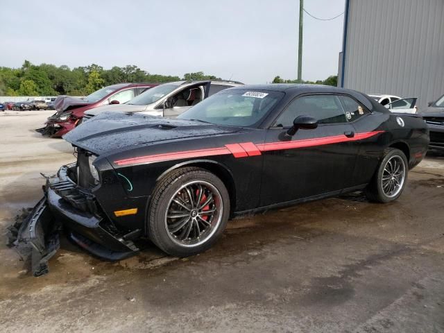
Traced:
[[405, 154], [399, 149], [388, 148], [366, 189], [367, 198], [377, 203], [390, 203], [398, 199], [404, 191], [408, 173], [409, 164]]

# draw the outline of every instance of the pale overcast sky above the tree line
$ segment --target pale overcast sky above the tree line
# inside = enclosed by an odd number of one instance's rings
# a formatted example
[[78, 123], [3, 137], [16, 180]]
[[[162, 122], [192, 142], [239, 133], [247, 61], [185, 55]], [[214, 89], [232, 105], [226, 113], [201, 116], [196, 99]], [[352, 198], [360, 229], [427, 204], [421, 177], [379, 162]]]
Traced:
[[[305, 0], [322, 19], [345, 0]], [[296, 79], [298, 0], [1, 0], [0, 67], [51, 63], [151, 74], [204, 71], [243, 83]], [[338, 71], [343, 15], [304, 14], [302, 79]]]

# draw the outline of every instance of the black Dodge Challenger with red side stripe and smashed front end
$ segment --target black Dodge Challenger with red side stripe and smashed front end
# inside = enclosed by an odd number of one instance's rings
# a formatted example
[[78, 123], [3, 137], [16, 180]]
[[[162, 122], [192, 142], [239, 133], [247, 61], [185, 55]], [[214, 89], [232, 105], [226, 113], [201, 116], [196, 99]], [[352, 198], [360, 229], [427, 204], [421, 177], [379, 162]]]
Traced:
[[47, 272], [63, 226], [105, 259], [151, 239], [169, 255], [210, 248], [228, 219], [364, 190], [397, 199], [427, 151], [415, 114], [317, 85], [226, 89], [178, 119], [101, 114], [65, 135], [77, 162], [48, 177], [15, 245]]

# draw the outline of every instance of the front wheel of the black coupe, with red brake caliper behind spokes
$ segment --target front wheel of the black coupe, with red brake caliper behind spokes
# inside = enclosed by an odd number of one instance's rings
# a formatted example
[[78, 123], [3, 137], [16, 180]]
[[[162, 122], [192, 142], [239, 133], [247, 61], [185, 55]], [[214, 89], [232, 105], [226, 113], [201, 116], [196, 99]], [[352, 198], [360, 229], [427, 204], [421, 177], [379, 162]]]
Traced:
[[221, 236], [229, 215], [230, 196], [223, 182], [205, 169], [184, 167], [157, 182], [148, 208], [148, 236], [169, 255], [196, 255]]

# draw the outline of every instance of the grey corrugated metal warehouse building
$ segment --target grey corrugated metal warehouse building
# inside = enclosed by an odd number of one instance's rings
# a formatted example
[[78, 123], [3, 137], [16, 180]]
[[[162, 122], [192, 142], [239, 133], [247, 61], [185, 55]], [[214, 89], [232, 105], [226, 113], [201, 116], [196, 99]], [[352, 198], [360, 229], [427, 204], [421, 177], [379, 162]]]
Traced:
[[418, 97], [444, 94], [444, 0], [346, 0], [338, 85]]

